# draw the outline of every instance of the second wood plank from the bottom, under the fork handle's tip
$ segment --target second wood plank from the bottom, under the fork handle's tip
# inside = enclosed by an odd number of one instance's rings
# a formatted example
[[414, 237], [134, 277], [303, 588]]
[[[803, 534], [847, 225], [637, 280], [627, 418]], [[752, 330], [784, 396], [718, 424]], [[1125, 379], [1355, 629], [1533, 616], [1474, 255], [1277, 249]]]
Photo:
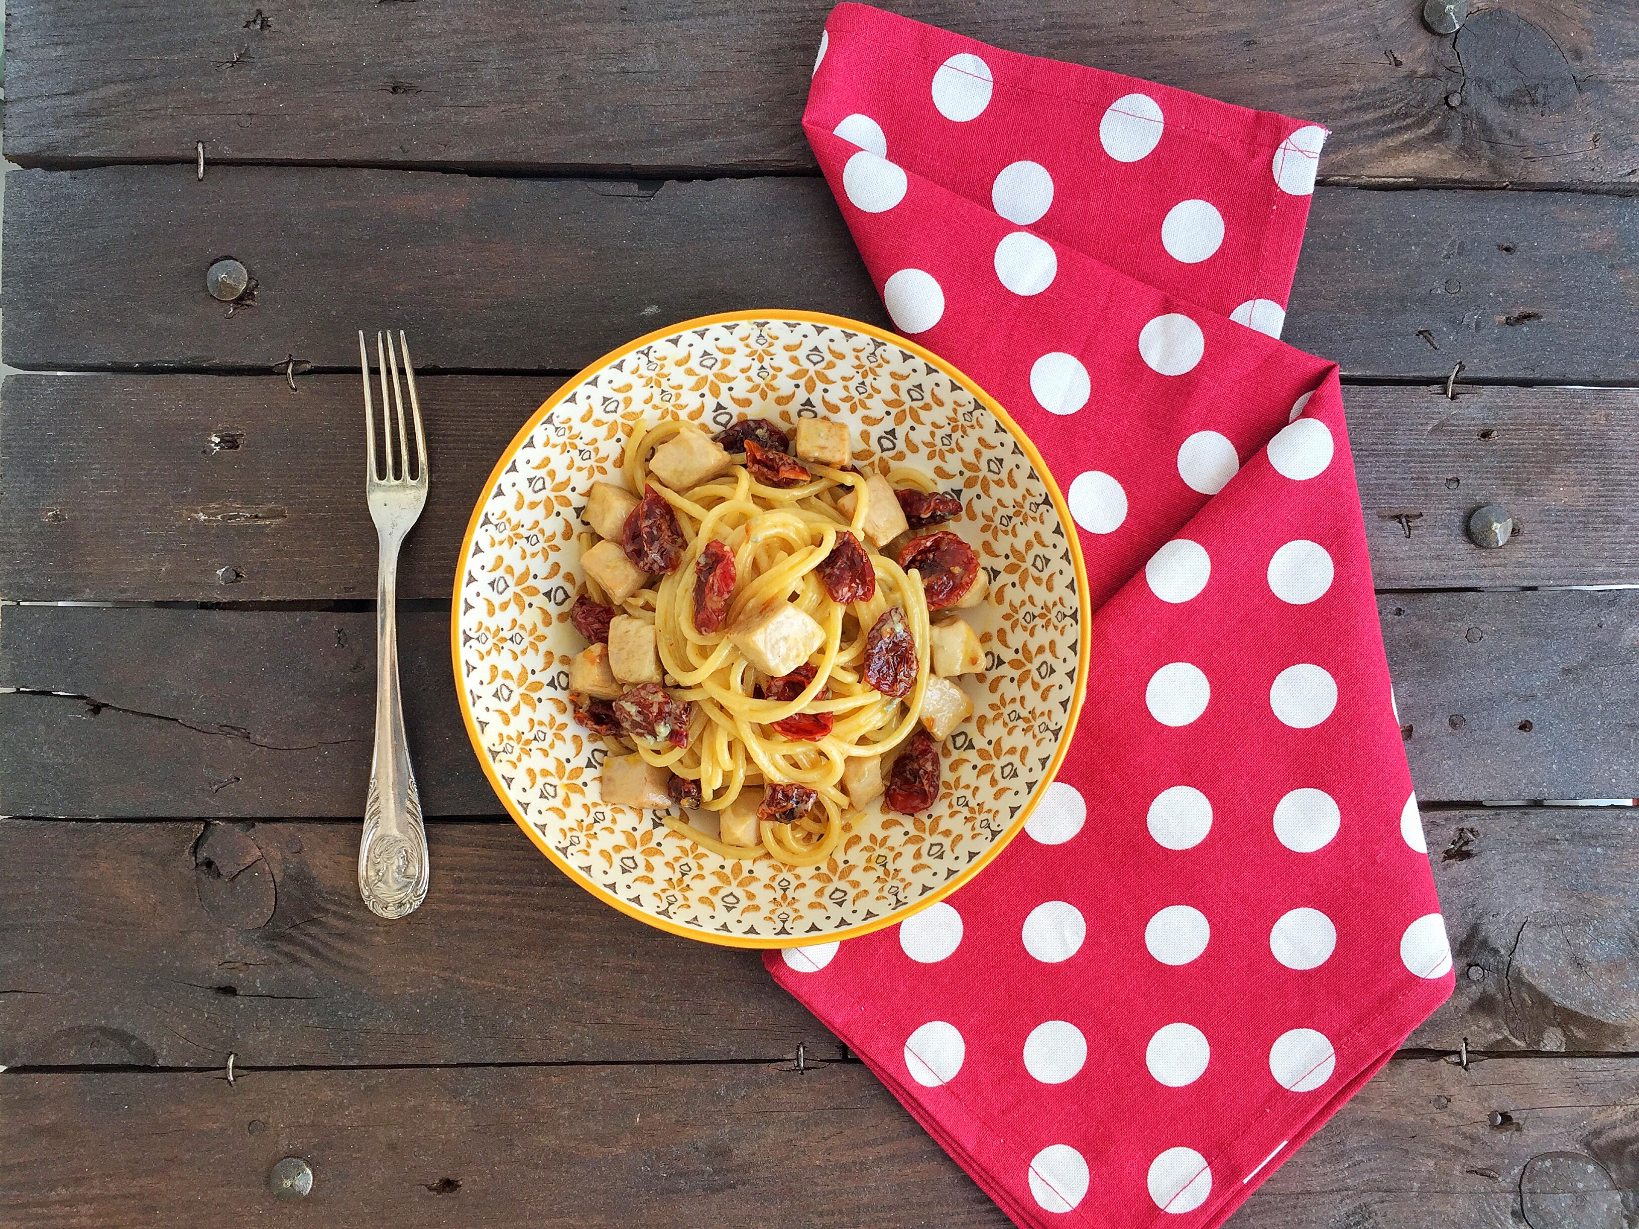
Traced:
[[[1424, 816], [1457, 991], [1408, 1042], [1639, 1049], [1639, 821]], [[836, 1039], [754, 952], [611, 913], [510, 823], [438, 823], [426, 905], [359, 905], [356, 823], [0, 821], [8, 1067], [775, 1062]], [[1480, 970], [1480, 975], [1470, 972]]]

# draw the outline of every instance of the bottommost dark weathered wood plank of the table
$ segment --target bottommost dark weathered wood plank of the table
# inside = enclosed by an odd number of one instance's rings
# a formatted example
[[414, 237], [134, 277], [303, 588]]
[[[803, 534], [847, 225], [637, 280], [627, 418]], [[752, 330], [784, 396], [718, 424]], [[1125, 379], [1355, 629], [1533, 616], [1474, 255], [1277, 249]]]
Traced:
[[[1632, 1059], [1392, 1062], [1233, 1224], [1619, 1226], [1636, 1096]], [[1006, 1224], [859, 1063], [13, 1073], [0, 1106], [16, 1229]]]

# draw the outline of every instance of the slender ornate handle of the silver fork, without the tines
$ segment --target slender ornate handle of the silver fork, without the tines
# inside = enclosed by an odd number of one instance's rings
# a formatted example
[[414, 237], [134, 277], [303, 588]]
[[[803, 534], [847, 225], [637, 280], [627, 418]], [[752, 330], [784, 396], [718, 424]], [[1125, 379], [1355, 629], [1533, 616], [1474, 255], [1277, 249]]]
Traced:
[[428, 883], [426, 826], [398, 690], [400, 542], [402, 534], [382, 534], [375, 569], [375, 755], [359, 841], [359, 895], [379, 918], [413, 913]]

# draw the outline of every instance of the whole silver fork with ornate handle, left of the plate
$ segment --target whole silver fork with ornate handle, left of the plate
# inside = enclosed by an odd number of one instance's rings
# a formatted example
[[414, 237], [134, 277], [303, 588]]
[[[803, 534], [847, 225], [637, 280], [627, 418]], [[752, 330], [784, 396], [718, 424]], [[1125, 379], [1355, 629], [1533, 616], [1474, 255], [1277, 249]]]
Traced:
[[[410, 769], [405, 710], [398, 692], [398, 547], [426, 506], [426, 436], [421, 431], [421, 398], [416, 395], [410, 344], [398, 333], [410, 411], [415, 416], [415, 472], [410, 472], [410, 439], [405, 428], [403, 385], [392, 333], [375, 334], [375, 361], [382, 375], [382, 446], [387, 464], [375, 465], [375, 408], [370, 403], [370, 356], [359, 333], [359, 367], [364, 375], [364, 433], [367, 465], [364, 493], [380, 539], [375, 572], [375, 757], [370, 793], [364, 803], [364, 836], [359, 841], [359, 895], [380, 918], [403, 918], [426, 900], [426, 828], [421, 796]], [[387, 374], [392, 372], [392, 400]], [[393, 465], [393, 434], [398, 464]]]

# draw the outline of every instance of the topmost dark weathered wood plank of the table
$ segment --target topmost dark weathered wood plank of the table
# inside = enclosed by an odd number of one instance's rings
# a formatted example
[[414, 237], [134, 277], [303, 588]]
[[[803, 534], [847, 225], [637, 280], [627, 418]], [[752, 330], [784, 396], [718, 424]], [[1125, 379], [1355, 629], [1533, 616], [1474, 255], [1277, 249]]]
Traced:
[[[1398, 0], [1203, 8], [906, 0], [1003, 48], [1328, 125], [1333, 175], [1628, 184], [1639, 26], [1514, 3], [1455, 39]], [[798, 128], [831, 0], [415, 8], [298, 0], [11, 7], [7, 152], [87, 159], [810, 170]], [[1319, 70], [1316, 70], [1319, 69]], [[1447, 102], [1455, 95], [1454, 103]]]

